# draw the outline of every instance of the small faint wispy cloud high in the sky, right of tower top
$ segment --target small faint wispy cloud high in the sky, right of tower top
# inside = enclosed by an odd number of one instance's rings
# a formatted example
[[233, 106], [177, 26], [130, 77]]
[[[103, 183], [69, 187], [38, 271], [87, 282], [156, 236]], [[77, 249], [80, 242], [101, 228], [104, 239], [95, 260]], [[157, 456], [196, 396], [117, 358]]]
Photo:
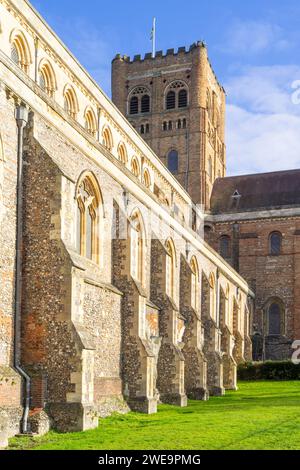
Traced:
[[235, 20], [227, 29], [225, 41], [220, 47], [228, 54], [258, 54], [271, 48], [284, 50], [289, 46], [280, 26], [267, 21]]

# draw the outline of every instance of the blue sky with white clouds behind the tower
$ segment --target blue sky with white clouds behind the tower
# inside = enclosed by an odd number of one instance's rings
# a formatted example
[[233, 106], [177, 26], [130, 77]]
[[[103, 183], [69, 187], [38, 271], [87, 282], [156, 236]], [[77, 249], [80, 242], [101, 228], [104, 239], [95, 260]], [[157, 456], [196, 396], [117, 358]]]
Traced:
[[153, 16], [157, 49], [203, 39], [227, 91], [228, 173], [300, 167], [298, 0], [32, 4], [109, 95], [111, 59], [151, 50]]

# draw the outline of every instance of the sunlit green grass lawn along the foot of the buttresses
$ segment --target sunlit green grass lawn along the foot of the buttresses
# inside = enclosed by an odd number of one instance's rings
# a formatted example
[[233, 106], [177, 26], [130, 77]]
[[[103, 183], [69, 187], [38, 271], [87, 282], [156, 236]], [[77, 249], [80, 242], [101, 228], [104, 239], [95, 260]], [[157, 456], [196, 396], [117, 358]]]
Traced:
[[300, 382], [243, 382], [222, 398], [114, 415], [85, 433], [14, 438], [10, 449], [300, 449]]

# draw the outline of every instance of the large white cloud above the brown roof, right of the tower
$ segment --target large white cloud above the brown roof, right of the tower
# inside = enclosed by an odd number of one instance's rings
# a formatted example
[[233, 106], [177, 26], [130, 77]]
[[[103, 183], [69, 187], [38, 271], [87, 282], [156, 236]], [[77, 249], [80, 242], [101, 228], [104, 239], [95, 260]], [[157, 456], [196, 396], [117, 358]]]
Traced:
[[248, 67], [228, 81], [228, 174], [300, 168], [300, 67]]

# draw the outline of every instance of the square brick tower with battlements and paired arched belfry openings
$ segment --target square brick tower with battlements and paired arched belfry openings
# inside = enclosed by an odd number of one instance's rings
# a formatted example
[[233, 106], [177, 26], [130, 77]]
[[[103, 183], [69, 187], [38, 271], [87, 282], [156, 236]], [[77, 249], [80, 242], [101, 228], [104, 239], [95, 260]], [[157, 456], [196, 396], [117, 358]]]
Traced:
[[193, 201], [208, 209], [213, 183], [226, 172], [225, 92], [205, 44], [155, 58], [118, 54], [112, 99]]

